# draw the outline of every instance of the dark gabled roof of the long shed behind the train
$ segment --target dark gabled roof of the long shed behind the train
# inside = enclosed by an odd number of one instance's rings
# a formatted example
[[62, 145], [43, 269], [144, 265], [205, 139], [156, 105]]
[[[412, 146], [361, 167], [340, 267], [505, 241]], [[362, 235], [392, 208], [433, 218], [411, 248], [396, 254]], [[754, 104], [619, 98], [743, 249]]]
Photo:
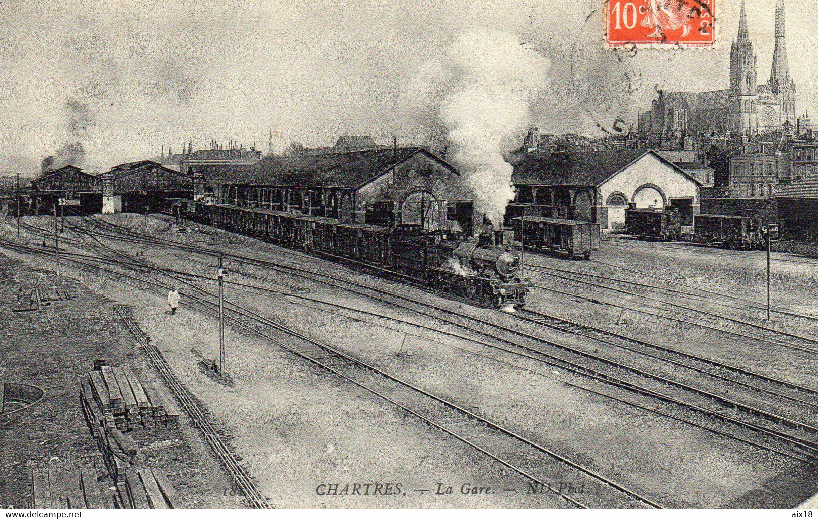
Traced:
[[459, 174], [454, 166], [423, 147], [266, 156], [254, 165], [212, 166], [208, 171], [227, 183], [358, 189], [418, 154]]

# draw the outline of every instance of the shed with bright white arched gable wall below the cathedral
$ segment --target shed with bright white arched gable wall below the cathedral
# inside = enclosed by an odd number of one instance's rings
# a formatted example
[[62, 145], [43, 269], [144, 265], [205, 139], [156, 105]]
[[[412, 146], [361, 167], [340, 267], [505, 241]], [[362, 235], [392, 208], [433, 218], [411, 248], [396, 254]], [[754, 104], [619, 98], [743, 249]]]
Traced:
[[528, 154], [515, 165], [517, 204], [555, 205], [560, 214], [621, 230], [629, 203], [665, 205], [699, 213], [703, 186], [689, 170], [653, 150], [576, 151]]

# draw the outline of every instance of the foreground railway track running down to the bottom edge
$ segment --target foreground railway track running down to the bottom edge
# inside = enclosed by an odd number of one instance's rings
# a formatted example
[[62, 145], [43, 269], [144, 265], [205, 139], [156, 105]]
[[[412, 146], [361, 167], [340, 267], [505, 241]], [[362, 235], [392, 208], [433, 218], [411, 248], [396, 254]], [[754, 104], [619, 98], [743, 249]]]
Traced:
[[[2, 241], [2, 243], [9, 245], [8, 241]], [[14, 245], [11, 244], [11, 246]], [[33, 247], [23, 249], [23, 247], [16, 246], [14, 248], [29, 253], [53, 254]], [[116, 278], [122, 274], [100, 267], [97, 264], [83, 263], [82, 260], [66, 258], [66, 261], [79, 263], [85, 269], [101, 269], [110, 278]], [[119, 267], [130, 268], [128, 260], [115, 263]], [[198, 309], [205, 311], [205, 313], [214, 314], [217, 307], [213, 300], [215, 297], [213, 293], [201, 287], [196, 287], [185, 278], [169, 276], [167, 273], [162, 273], [161, 269], [155, 269], [155, 271], [160, 275], [168, 276], [173, 282], [191, 287], [190, 291], [186, 291], [185, 296], [194, 301]], [[129, 274], [128, 277], [132, 282], [142, 282], [149, 287], [153, 287], [154, 291], [159, 287], [159, 293], [169, 286], [169, 282], [163, 284], [155, 279], [141, 278], [140, 275], [134, 275], [133, 273]], [[261, 336], [298, 357], [316, 364], [319, 368], [335, 373], [344, 380], [386, 399], [406, 413], [420, 418], [421, 421], [430, 426], [434, 426], [457, 440], [463, 441], [466, 445], [470, 445], [470, 447], [488, 455], [498, 463], [502, 463], [518, 472], [529, 481], [532, 481], [535, 485], [534, 488], [542, 493], [560, 495], [566, 502], [578, 508], [591, 508], [591, 506], [595, 508], [621, 508], [623, 505], [662, 508], [651, 499], [645, 498], [609, 477], [565, 458], [515, 431], [511, 431], [506, 426], [492, 422], [488, 418], [481, 417], [452, 401], [434, 395], [427, 390], [412, 385], [410, 382], [403, 381], [342, 350], [337, 350], [330, 345], [304, 336], [289, 327], [284, 327], [251, 309], [237, 305], [229, 300], [226, 300], [225, 304], [227, 305], [226, 318], [229, 323], [233, 323], [256, 336]], [[280, 338], [273, 336], [270, 330], [282, 332], [285, 336], [298, 341], [295, 343], [282, 341]], [[173, 376], [173, 372], [169, 372], [168, 376]], [[546, 461], [544, 455], [557, 463], [544, 463]], [[587, 481], [593, 485], [593, 488], [591, 492], [584, 494], [584, 501], [581, 501], [576, 497], [560, 493], [551, 485], [554, 481]], [[623, 501], [623, 498], [626, 501]], [[590, 501], [592, 502], [589, 503]]]

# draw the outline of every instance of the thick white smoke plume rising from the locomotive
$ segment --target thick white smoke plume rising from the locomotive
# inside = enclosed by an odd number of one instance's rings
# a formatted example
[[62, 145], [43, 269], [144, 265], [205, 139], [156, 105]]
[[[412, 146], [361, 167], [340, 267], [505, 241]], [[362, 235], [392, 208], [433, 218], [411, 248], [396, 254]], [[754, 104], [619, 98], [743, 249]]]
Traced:
[[476, 209], [500, 224], [514, 199], [503, 152], [531, 124], [551, 62], [506, 31], [473, 29], [427, 62], [404, 93], [430, 135], [445, 134], [448, 156], [474, 191]]

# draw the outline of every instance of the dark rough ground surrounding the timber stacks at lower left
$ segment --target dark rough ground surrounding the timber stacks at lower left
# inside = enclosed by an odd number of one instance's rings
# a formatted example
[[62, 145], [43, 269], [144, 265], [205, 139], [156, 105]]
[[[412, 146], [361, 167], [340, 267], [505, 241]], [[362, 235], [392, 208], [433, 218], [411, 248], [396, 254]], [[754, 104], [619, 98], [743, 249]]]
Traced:
[[[43, 265], [45, 266], [45, 265]], [[12, 313], [18, 287], [69, 289], [74, 299], [40, 312]], [[30, 472], [37, 468], [78, 471], [93, 467], [97, 450], [79, 407], [77, 388], [97, 359], [129, 365], [138, 377], [164, 391], [152, 368], [133, 347], [133, 337], [110, 300], [70, 278], [12, 262], [0, 255], [0, 381], [48, 388], [39, 404], [0, 417], [0, 508], [26, 508]], [[165, 392], [165, 398], [172, 398]], [[185, 508], [236, 508], [242, 500], [224, 496], [231, 482], [213, 461], [200, 436], [184, 422], [175, 431], [133, 433], [138, 445], [167, 442], [143, 453], [149, 467], [168, 474]], [[110, 480], [108, 480], [110, 482]]]

